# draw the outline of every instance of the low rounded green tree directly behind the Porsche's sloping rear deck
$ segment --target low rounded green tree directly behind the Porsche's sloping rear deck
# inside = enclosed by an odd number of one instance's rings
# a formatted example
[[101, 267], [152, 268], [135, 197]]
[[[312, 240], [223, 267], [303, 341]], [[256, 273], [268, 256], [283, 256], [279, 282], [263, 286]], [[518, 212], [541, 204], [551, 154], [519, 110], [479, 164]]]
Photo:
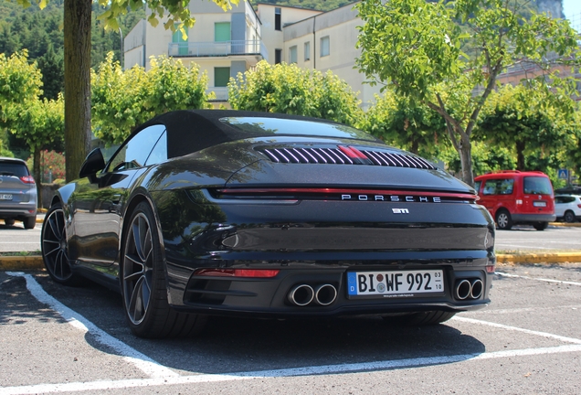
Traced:
[[359, 128], [387, 144], [426, 157], [437, 156], [438, 145], [446, 142], [446, 125], [437, 112], [391, 90], [375, 96], [375, 104], [365, 113]]

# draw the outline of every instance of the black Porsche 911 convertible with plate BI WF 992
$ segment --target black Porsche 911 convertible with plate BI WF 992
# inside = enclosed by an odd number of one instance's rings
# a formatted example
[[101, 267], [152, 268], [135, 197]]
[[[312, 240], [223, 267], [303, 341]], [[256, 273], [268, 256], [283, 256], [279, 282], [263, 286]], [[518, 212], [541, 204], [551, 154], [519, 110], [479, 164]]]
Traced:
[[343, 124], [168, 112], [79, 177], [52, 200], [45, 264], [119, 289], [137, 336], [207, 315], [438, 324], [490, 303], [494, 221], [475, 191]]

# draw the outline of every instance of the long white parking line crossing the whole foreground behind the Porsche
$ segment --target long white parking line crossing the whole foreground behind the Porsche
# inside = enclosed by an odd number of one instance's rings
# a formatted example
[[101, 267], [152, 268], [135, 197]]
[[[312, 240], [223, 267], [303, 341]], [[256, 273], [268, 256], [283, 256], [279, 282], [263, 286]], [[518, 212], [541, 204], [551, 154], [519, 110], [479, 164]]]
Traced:
[[432, 365], [449, 364], [468, 360], [511, 358], [522, 356], [535, 356], [546, 354], [559, 354], [566, 352], [581, 352], [581, 346], [558, 346], [544, 348], [525, 348], [517, 350], [497, 351], [483, 354], [465, 354], [458, 356], [432, 357], [432, 358], [409, 358], [391, 361], [378, 361], [357, 364], [327, 365], [306, 368], [289, 368], [277, 370], [260, 370], [250, 372], [240, 372], [232, 374], [200, 374], [192, 376], [179, 376], [158, 379], [128, 379], [116, 381], [91, 381], [65, 384], [40, 384], [23, 387], [0, 387], [0, 394], [34, 394], [34, 393], [55, 393], [55, 392], [80, 392], [85, 390], [111, 390], [129, 389], [149, 386], [182, 385], [194, 383], [208, 383], [217, 381], [232, 381], [246, 379], [268, 379], [294, 376], [311, 376], [322, 374], [340, 374], [357, 371], [387, 370], [396, 368], [418, 368]]

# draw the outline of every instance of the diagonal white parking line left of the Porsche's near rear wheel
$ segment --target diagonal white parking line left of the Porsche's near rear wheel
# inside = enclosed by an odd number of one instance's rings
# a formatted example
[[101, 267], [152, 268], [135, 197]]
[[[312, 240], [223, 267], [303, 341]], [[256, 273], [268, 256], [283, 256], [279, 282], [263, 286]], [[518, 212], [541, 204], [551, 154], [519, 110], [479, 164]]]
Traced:
[[65, 320], [67, 320], [71, 326], [74, 326], [83, 332], [89, 332], [92, 336], [95, 336], [100, 344], [111, 347], [119, 353], [123, 359], [132, 363], [136, 368], [141, 369], [143, 373], [149, 377], [168, 378], [179, 376], [170, 368], [165, 368], [155, 362], [152, 358], [149, 358], [136, 349], [127, 346], [125, 343], [121, 342], [121, 340], [109, 335], [107, 332], [100, 329], [100, 327], [95, 326], [84, 316], [79, 315], [79, 313], [58, 302], [58, 300], [47, 294], [30, 274], [25, 274], [23, 272], [6, 272], [6, 274], [14, 277], [24, 277], [26, 279], [26, 288], [28, 288], [30, 294], [36, 297], [39, 302], [48, 304], [50, 308], [58, 313], [58, 315], [61, 315]]

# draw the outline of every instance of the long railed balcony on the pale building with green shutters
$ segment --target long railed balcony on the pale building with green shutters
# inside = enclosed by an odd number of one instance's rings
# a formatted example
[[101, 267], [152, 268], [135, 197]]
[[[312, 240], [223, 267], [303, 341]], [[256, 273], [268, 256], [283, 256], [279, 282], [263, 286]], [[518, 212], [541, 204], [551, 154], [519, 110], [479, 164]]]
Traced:
[[268, 60], [267, 48], [260, 40], [232, 40], [169, 43], [168, 56], [174, 58], [261, 57]]

